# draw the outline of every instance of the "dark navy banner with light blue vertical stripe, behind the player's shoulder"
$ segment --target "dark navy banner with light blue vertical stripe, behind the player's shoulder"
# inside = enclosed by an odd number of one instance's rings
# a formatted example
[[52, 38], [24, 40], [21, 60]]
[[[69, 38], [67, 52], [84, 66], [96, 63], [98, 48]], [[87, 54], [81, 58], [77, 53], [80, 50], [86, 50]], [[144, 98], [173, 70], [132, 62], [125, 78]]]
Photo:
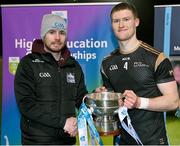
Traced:
[[180, 55], [180, 5], [155, 6], [154, 46], [169, 56]]

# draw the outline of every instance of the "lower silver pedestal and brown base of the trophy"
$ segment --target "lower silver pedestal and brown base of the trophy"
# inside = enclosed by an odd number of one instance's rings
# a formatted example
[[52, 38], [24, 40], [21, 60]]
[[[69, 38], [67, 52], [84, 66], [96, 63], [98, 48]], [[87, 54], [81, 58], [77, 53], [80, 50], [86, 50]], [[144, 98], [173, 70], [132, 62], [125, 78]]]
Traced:
[[94, 124], [101, 136], [120, 134], [119, 120], [114, 116], [98, 116], [95, 118]]

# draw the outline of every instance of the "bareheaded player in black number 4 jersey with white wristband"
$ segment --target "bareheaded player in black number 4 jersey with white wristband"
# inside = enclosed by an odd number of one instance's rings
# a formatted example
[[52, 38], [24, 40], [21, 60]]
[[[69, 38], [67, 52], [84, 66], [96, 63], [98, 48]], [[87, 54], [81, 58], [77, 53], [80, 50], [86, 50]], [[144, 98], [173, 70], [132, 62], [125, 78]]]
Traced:
[[[178, 107], [178, 90], [171, 63], [162, 52], [137, 39], [139, 18], [132, 4], [114, 6], [111, 20], [119, 48], [104, 58], [101, 66], [103, 86], [96, 92], [108, 89], [123, 93], [123, 105], [128, 108], [142, 143], [168, 145], [163, 112]], [[122, 129], [119, 144], [137, 143]]]

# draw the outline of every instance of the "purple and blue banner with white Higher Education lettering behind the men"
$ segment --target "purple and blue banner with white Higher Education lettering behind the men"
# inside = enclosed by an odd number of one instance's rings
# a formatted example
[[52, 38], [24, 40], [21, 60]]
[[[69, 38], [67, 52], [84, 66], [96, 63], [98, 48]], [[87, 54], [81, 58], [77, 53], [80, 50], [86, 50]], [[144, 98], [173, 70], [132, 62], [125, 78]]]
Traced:
[[110, 11], [114, 4], [2, 5], [2, 145], [21, 143], [14, 74], [20, 59], [31, 53], [33, 40], [40, 38], [42, 16], [57, 13], [67, 20], [67, 46], [81, 64], [87, 88], [92, 91], [101, 85], [99, 70], [103, 57], [117, 47], [110, 22]]

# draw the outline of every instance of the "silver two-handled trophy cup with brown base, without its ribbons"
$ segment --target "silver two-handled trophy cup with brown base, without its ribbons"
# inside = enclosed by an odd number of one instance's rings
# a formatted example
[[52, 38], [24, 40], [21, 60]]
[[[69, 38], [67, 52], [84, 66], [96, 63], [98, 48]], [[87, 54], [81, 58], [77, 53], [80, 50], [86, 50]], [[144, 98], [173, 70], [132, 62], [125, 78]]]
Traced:
[[119, 119], [117, 116], [118, 99], [121, 93], [100, 92], [87, 94], [85, 104], [94, 115], [94, 124], [100, 135], [118, 135]]

